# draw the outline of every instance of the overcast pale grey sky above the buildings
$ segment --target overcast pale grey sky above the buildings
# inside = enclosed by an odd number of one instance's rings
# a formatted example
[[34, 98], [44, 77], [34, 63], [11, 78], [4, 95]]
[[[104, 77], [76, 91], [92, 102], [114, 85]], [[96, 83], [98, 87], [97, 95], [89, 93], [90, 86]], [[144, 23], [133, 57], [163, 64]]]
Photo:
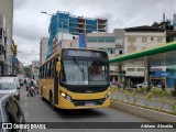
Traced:
[[108, 19], [108, 32], [173, 19], [175, 0], [14, 0], [13, 40], [23, 65], [40, 59], [40, 42], [48, 36], [51, 15], [66, 11], [74, 15]]

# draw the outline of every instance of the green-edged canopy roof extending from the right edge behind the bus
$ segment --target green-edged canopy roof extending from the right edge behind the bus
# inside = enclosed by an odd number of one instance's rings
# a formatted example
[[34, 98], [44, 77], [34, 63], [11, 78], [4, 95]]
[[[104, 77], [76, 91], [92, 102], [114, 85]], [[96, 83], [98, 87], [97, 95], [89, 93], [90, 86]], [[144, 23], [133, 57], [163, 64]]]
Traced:
[[176, 41], [110, 58], [110, 65], [145, 61], [152, 67], [176, 65]]

